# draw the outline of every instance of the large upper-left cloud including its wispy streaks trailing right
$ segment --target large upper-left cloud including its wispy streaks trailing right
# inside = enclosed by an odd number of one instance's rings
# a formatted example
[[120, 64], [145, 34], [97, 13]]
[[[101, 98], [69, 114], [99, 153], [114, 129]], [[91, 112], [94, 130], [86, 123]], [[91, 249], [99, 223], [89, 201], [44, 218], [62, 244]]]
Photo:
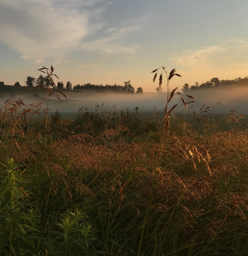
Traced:
[[140, 26], [110, 27], [101, 19], [109, 0], [2, 0], [0, 41], [33, 63], [64, 61], [77, 49], [134, 53], [137, 44], [119, 39]]

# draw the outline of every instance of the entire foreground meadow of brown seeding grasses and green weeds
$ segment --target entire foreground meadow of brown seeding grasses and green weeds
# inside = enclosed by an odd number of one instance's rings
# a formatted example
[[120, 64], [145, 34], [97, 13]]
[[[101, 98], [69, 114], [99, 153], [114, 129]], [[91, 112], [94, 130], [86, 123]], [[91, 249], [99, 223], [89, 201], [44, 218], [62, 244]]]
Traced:
[[194, 97], [170, 90], [180, 75], [161, 70], [163, 118], [141, 118], [138, 106], [49, 116], [49, 98], [60, 95], [49, 88], [45, 109], [18, 96], [1, 106], [1, 255], [248, 253], [243, 116], [215, 121], [204, 106], [192, 126], [170, 100], [186, 108]]

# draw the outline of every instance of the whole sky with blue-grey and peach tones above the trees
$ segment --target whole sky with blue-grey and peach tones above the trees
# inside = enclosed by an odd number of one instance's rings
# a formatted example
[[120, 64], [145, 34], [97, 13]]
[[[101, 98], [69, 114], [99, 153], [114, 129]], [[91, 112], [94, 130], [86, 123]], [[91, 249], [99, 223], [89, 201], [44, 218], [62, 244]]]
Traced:
[[130, 80], [144, 92], [162, 66], [177, 69], [179, 89], [243, 78], [247, 11], [247, 0], [0, 0], [0, 81], [24, 85], [51, 65], [56, 84]]

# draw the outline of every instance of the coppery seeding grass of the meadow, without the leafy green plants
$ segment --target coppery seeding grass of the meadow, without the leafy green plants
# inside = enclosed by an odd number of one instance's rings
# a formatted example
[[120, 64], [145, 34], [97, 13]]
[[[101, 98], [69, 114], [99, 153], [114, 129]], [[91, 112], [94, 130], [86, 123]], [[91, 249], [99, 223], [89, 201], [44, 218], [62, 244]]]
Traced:
[[[245, 250], [241, 232], [245, 232], [248, 213], [246, 131], [233, 129], [206, 136], [190, 132], [191, 127], [187, 126], [184, 136], [172, 135], [163, 145], [161, 167], [154, 177], [158, 140], [144, 138], [142, 142], [144, 136], [141, 136], [138, 142], [129, 141], [126, 129], [119, 128], [103, 129], [96, 137], [75, 134], [71, 131], [73, 121], [57, 122], [58, 125], [48, 122], [51, 129], [46, 133], [43, 157], [44, 120], [40, 121], [43, 128], [38, 131], [29, 128], [31, 131], [24, 135], [3, 139], [0, 144], [1, 162], [13, 156], [20, 177], [28, 180], [22, 184], [31, 191], [28, 200], [40, 193], [34, 198], [35, 204], [40, 205], [36, 206], [40, 213], [46, 213], [47, 221], [52, 222], [54, 214], [65, 213], [69, 203], [70, 208], [84, 209], [86, 215], [91, 216], [91, 223], [97, 230], [96, 240], [91, 243], [96, 250], [135, 254], [138, 248], [135, 238], [140, 236], [154, 180], [141, 251], [179, 255], [190, 251], [192, 254], [211, 250], [221, 253], [225, 247], [235, 248], [234, 253], [239, 248]], [[179, 124], [178, 129], [181, 127]], [[199, 147], [196, 140], [204, 144], [204, 148]], [[5, 143], [9, 143], [8, 147]], [[202, 157], [208, 150], [212, 176], [206, 171], [204, 161], [198, 162], [196, 152], [193, 156], [195, 170], [192, 156], [188, 154], [194, 147]], [[50, 238], [55, 239], [52, 226], [47, 228]], [[228, 242], [234, 240], [230, 229], [235, 236], [240, 236], [236, 247]], [[104, 245], [100, 241], [104, 241]], [[225, 247], [221, 246], [224, 242]], [[53, 251], [48, 244], [46, 248], [48, 252]]]

